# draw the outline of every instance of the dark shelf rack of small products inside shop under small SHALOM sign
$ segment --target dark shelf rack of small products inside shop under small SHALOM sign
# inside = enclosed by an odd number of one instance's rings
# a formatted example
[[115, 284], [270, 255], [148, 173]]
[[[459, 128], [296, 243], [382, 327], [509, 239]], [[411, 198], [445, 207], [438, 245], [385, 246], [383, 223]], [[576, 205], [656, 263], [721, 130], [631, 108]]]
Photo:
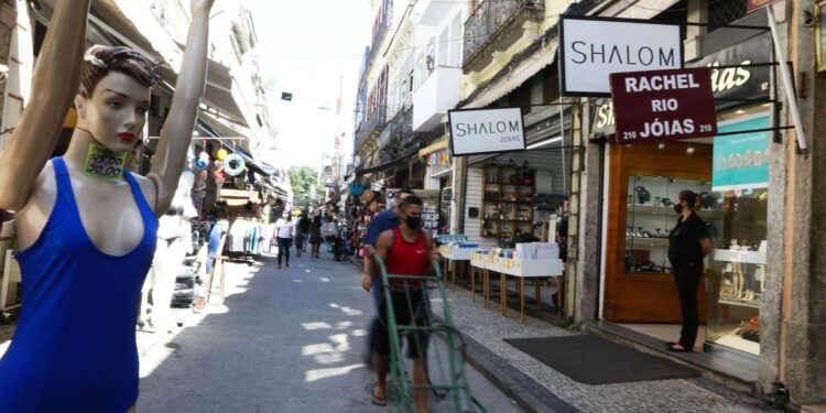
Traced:
[[530, 167], [482, 167], [481, 236], [511, 243], [533, 236], [536, 172]]

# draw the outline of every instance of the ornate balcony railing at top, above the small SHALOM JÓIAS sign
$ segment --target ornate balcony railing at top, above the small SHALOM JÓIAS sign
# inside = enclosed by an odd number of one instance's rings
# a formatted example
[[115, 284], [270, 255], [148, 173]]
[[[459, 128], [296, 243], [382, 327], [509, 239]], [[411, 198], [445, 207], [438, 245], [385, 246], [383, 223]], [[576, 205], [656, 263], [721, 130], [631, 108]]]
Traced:
[[467, 65], [488, 41], [508, 22], [521, 13], [543, 17], [544, 0], [494, 0], [483, 1], [465, 22], [465, 48], [463, 63]]

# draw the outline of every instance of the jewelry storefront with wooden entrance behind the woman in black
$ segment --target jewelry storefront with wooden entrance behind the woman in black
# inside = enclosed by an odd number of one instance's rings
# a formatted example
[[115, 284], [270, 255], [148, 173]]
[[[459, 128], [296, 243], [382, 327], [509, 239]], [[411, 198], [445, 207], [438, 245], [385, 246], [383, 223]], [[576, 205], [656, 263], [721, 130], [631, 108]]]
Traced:
[[[705, 351], [760, 355], [760, 307], [769, 238], [769, 148], [776, 127], [769, 104], [770, 40], [757, 36], [687, 66], [713, 70], [718, 137], [622, 145], [609, 100], [593, 106], [590, 135], [605, 153], [599, 317], [665, 341], [680, 335], [681, 312], [667, 259], [672, 205], [684, 189], [700, 195], [714, 250], [700, 283], [699, 343]], [[756, 131], [762, 130], [762, 131]]]

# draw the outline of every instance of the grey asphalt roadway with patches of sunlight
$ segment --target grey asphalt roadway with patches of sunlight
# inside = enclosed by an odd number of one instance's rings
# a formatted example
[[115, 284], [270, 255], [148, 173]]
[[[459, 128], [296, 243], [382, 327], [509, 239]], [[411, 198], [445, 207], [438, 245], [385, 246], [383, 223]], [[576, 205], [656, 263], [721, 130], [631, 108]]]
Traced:
[[[138, 411], [392, 411], [371, 404], [374, 379], [361, 355], [373, 307], [359, 280], [357, 267], [326, 253], [293, 257], [283, 270], [274, 257], [228, 264], [225, 309], [188, 316], [177, 335], [138, 333]], [[469, 367], [468, 374], [488, 411], [521, 411]]]

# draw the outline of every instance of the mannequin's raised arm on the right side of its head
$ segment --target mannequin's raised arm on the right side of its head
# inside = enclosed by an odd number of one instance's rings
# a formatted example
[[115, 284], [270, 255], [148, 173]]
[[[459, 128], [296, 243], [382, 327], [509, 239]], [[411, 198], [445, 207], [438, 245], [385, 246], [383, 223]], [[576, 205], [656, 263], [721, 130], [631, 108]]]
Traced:
[[157, 188], [154, 208], [159, 217], [170, 208], [175, 197], [197, 119], [198, 104], [206, 86], [209, 9], [213, 1], [192, 0], [192, 23], [186, 37], [184, 61], [175, 84], [170, 115], [161, 130], [157, 154], [148, 176]]

